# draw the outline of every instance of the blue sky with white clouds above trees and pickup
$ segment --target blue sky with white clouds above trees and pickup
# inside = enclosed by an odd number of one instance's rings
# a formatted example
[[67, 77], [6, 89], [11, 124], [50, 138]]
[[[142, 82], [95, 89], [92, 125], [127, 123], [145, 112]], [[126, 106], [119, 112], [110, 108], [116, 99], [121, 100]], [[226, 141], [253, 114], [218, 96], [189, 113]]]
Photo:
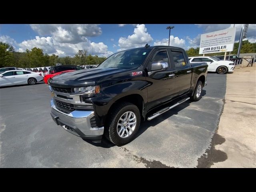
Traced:
[[[200, 35], [234, 24], [0, 24], [0, 41], [24, 52], [34, 47], [49, 55], [74, 56], [78, 50], [108, 57], [120, 50], [145, 44], [182, 47], [185, 50], [200, 45]], [[235, 42], [239, 41], [243, 24], [236, 24]], [[256, 24], [249, 24], [247, 40], [256, 42]], [[245, 39], [245, 40], [246, 40]]]

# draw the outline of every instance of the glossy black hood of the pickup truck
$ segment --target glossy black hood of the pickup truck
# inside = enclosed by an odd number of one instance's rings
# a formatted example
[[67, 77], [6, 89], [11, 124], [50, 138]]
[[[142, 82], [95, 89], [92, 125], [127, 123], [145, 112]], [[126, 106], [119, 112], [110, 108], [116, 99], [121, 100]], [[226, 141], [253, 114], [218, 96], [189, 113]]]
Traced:
[[98, 80], [113, 76], [120, 72], [128, 71], [123, 68], [91, 68], [84, 70], [77, 70], [60, 75], [56, 75], [50, 81], [50, 85], [56, 86], [90, 86], [94, 85]]

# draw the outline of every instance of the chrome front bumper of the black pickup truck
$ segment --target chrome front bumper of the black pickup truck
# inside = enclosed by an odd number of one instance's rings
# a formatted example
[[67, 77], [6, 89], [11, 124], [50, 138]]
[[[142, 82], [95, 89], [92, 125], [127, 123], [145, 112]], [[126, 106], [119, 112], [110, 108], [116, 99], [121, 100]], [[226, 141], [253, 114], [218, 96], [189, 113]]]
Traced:
[[51, 100], [51, 108], [52, 119], [57, 125], [83, 139], [100, 142], [104, 127], [91, 127], [90, 118], [94, 116], [94, 111], [74, 110], [65, 114], [56, 108], [53, 99]]

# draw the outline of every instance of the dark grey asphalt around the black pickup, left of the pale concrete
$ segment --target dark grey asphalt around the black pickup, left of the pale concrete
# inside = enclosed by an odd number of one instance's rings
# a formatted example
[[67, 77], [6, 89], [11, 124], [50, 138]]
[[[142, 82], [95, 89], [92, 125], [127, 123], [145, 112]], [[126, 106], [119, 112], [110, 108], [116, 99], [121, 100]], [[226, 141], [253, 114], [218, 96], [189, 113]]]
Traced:
[[226, 75], [209, 73], [198, 102], [142, 122], [135, 140], [93, 144], [57, 126], [48, 85], [0, 88], [1, 168], [197, 167], [218, 126]]

